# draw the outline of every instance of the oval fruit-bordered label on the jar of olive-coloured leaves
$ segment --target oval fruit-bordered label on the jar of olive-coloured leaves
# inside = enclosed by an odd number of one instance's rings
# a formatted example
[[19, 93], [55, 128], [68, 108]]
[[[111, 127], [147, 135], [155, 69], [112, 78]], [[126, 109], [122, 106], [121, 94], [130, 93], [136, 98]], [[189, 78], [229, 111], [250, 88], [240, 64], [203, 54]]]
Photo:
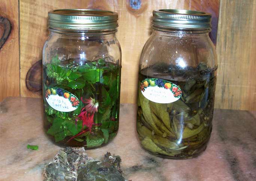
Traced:
[[182, 91], [177, 85], [164, 79], [144, 79], [140, 88], [145, 98], [156, 103], [168, 104], [182, 96]]

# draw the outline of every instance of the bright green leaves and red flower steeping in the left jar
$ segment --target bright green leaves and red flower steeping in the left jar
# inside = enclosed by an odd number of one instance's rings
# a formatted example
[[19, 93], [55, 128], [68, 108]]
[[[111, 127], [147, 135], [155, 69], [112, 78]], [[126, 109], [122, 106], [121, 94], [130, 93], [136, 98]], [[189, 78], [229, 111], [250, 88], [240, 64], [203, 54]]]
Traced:
[[52, 87], [61, 88], [79, 101], [74, 111], [61, 112], [52, 108], [45, 97], [43, 99], [46, 133], [58, 144], [99, 147], [116, 135], [120, 67], [105, 61], [98, 59], [83, 65], [63, 65], [56, 56], [50, 63], [43, 65], [43, 92]]

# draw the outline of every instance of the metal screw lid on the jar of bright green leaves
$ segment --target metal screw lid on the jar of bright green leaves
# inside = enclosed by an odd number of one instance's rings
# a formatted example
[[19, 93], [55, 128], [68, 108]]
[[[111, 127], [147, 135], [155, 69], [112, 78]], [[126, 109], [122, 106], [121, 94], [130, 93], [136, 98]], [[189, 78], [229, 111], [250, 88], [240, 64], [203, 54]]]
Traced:
[[108, 30], [118, 27], [118, 13], [96, 9], [56, 9], [48, 12], [48, 25], [56, 30]]

